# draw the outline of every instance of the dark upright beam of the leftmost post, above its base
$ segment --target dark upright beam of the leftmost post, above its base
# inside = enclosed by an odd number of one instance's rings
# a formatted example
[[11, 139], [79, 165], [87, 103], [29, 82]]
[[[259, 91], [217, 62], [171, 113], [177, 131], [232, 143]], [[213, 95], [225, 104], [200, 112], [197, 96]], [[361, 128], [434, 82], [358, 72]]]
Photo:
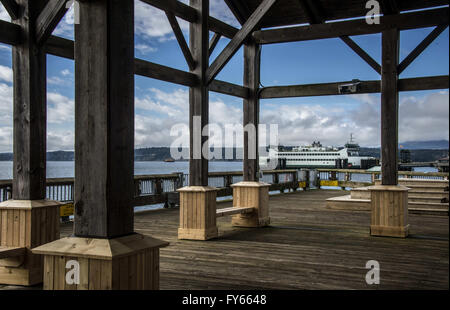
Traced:
[[13, 199], [45, 198], [47, 115], [46, 52], [35, 43], [35, 23], [45, 0], [18, 0], [21, 43], [12, 48], [14, 72]]

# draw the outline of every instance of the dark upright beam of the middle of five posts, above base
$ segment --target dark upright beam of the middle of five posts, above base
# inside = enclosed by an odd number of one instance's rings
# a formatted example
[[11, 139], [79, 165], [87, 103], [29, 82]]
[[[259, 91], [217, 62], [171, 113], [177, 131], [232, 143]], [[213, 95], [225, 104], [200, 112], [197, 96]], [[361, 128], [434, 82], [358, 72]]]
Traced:
[[[202, 146], [207, 143], [207, 137], [202, 136], [203, 128], [209, 119], [209, 93], [206, 79], [206, 70], [209, 65], [209, 0], [190, 0], [198, 19], [190, 24], [190, 49], [196, 67], [191, 72], [198, 78], [198, 84], [189, 89], [189, 129], [190, 129], [190, 161], [189, 185], [208, 185], [208, 159], [202, 154]], [[195, 119], [200, 117], [199, 124]], [[198, 126], [200, 125], [200, 126]], [[200, 128], [199, 128], [200, 127]]]

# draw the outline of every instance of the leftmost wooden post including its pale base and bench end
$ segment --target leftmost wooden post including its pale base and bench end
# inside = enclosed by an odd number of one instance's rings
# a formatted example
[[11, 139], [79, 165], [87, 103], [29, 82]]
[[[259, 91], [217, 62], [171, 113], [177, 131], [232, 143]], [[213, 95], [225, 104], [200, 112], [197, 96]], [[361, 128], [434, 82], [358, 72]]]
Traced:
[[[3, 3], [13, 4], [15, 1]], [[14, 72], [14, 163], [12, 200], [0, 204], [0, 246], [24, 248], [0, 259], [0, 283], [42, 282], [43, 259], [31, 248], [59, 238], [60, 203], [46, 197], [46, 52], [36, 44], [35, 23], [46, 1], [18, 0], [13, 17], [22, 40], [12, 49]], [[17, 7], [18, 8], [18, 7]]]

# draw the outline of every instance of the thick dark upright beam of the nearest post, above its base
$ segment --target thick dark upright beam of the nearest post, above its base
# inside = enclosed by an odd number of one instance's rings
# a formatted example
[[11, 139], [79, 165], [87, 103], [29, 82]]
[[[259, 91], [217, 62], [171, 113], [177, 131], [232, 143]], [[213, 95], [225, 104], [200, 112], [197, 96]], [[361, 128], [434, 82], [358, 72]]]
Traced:
[[75, 236], [127, 235], [133, 232], [134, 1], [80, 1], [75, 64]]

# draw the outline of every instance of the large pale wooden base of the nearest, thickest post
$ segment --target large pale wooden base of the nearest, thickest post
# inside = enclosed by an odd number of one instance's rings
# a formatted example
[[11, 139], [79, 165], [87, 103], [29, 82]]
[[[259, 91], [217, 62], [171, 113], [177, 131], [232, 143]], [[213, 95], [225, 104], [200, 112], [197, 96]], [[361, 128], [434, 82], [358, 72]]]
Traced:
[[141, 234], [113, 239], [63, 238], [33, 249], [44, 255], [45, 290], [157, 290], [159, 249]]

